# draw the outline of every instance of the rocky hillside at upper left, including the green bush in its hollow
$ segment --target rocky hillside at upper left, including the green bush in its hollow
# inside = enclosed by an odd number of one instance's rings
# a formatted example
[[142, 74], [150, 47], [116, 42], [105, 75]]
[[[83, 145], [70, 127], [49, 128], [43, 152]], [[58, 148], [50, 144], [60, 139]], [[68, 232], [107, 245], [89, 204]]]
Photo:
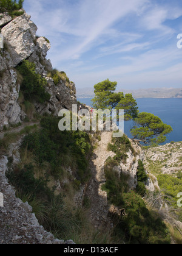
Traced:
[[[49, 40], [36, 36], [37, 27], [27, 13], [14, 20], [7, 20], [4, 13], [0, 15], [4, 37], [4, 50], [0, 51], [0, 129], [10, 123], [17, 124], [26, 116], [29, 118], [31, 108], [41, 115], [58, 115], [62, 108], [71, 109], [77, 103], [75, 84], [66, 74], [56, 82], [53, 79], [52, 64], [45, 58], [50, 49]], [[34, 80], [24, 87], [24, 80], [31, 79], [30, 73]], [[43, 88], [36, 88], [38, 81], [44, 83]], [[44, 90], [47, 94], [43, 101]]]

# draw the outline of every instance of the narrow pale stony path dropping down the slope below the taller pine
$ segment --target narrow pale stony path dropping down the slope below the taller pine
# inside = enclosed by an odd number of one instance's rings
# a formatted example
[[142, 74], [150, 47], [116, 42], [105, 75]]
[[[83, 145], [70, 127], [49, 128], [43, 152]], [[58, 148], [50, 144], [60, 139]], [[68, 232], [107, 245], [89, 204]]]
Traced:
[[106, 182], [104, 163], [108, 157], [115, 155], [115, 153], [107, 151], [107, 145], [111, 140], [112, 132], [103, 132], [101, 134], [101, 141], [99, 141], [98, 147], [95, 149], [90, 161], [92, 179], [87, 186], [86, 196], [90, 200], [90, 219], [96, 228], [110, 224], [107, 193], [102, 191], [101, 187]]

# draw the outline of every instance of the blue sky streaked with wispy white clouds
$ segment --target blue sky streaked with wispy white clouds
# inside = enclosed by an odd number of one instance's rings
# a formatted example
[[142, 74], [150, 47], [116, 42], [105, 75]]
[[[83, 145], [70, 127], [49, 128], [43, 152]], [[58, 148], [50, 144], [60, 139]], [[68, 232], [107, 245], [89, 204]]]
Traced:
[[25, 0], [24, 9], [76, 88], [106, 79], [118, 89], [182, 88], [181, 0]]

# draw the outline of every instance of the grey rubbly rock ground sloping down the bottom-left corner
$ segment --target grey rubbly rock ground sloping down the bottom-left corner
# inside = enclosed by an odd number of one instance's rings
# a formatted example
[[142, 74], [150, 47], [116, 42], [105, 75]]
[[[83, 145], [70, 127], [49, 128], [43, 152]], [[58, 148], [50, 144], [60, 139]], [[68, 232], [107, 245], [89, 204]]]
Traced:
[[[20, 144], [21, 141], [12, 144], [9, 154], [12, 155]], [[13, 155], [15, 163], [19, 161], [17, 152]], [[0, 158], [0, 191], [3, 195], [3, 207], [0, 206], [0, 244], [73, 244], [72, 240], [55, 239], [52, 233], [45, 231], [32, 213], [32, 207], [15, 196], [15, 190], [5, 177], [7, 164], [8, 157]]]

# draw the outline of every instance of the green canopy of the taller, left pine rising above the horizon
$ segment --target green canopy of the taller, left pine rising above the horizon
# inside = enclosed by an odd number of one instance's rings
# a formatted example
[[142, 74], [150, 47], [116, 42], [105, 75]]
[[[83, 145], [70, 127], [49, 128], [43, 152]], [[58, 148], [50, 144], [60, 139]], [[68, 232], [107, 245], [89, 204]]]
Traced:
[[124, 109], [124, 119], [130, 120], [138, 115], [138, 107], [132, 94], [115, 93], [117, 82], [110, 82], [109, 79], [99, 82], [94, 86], [95, 98], [92, 99], [93, 107], [96, 109]]

